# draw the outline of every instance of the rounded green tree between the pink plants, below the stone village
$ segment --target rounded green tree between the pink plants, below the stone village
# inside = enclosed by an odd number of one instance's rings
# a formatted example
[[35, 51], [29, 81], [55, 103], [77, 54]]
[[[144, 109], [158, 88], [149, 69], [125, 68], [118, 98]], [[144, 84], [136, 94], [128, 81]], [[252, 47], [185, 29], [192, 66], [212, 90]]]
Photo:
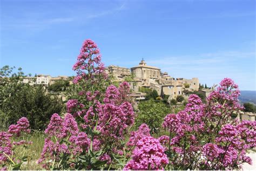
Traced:
[[154, 100], [142, 101], [139, 103], [139, 113], [135, 125], [139, 127], [145, 123], [151, 129], [151, 133], [158, 133], [164, 117], [170, 113], [170, 108], [163, 102]]

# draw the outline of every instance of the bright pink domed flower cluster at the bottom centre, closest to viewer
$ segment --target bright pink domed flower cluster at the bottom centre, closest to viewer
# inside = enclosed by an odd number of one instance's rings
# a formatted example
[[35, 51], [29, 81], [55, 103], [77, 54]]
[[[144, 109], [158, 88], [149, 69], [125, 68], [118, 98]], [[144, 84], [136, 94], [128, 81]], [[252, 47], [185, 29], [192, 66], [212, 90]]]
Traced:
[[132, 159], [127, 162], [124, 170], [158, 170], [164, 169], [169, 159], [164, 153], [164, 147], [152, 136], [144, 136], [132, 152]]

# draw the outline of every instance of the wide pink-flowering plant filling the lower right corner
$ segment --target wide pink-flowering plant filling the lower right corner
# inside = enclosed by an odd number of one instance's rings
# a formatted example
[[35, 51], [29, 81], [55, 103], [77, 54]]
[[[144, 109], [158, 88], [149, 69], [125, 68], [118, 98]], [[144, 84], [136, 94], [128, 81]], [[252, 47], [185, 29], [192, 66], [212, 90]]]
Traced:
[[163, 146], [174, 169], [238, 169], [252, 163], [246, 150], [255, 147], [256, 122], [232, 121], [241, 110], [238, 86], [225, 78], [203, 104], [191, 95], [184, 111], [165, 117]]

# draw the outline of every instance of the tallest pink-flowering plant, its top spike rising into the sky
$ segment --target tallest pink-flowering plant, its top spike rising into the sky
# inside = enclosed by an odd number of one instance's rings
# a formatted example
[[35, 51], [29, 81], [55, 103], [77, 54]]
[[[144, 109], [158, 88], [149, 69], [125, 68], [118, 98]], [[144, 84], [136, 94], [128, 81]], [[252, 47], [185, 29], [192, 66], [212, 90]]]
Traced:
[[134, 122], [130, 85], [124, 82], [102, 91], [107, 76], [92, 40], [83, 43], [73, 70], [82, 98], [66, 103], [64, 117], [52, 115], [38, 163], [46, 169], [109, 168], [114, 156], [124, 153], [125, 135]]

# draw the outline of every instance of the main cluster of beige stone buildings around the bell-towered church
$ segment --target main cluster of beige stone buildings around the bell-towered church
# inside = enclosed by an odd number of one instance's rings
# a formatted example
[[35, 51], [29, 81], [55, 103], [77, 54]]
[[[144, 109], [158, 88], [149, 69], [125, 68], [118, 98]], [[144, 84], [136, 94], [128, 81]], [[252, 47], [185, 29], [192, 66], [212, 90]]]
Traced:
[[108, 74], [112, 74], [117, 81], [124, 81], [125, 76], [133, 74], [134, 81], [129, 83], [133, 92], [139, 92], [139, 87], [147, 87], [156, 90], [162, 97], [169, 95], [175, 99], [177, 95], [184, 95], [183, 91], [198, 91], [198, 78], [185, 79], [173, 78], [167, 72], [162, 73], [158, 67], [149, 66], [145, 60], [141, 60], [138, 66], [128, 68], [110, 65], [106, 68]]

